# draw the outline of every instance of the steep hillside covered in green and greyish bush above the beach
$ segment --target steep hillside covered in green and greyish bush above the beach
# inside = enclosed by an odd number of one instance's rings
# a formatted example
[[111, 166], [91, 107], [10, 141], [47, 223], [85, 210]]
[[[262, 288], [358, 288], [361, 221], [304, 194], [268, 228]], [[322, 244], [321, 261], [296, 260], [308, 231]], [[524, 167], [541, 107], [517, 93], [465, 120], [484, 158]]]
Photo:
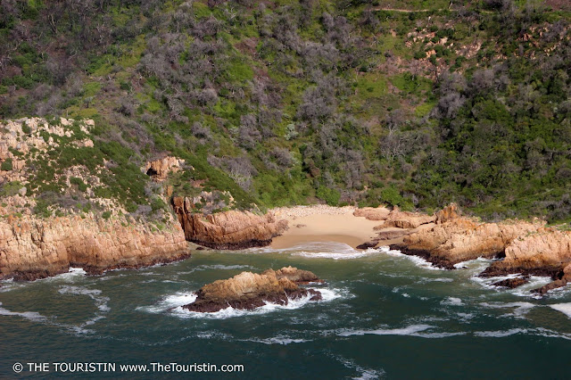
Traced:
[[[0, 120], [95, 120], [93, 146], [22, 158], [44, 209], [90, 207], [89, 184], [62, 180], [79, 165], [111, 173], [98, 197], [150, 214], [163, 205], [141, 167], [175, 156], [170, 194], [222, 208], [571, 219], [566, 2], [0, 4]], [[54, 195], [70, 183], [73, 202]]]

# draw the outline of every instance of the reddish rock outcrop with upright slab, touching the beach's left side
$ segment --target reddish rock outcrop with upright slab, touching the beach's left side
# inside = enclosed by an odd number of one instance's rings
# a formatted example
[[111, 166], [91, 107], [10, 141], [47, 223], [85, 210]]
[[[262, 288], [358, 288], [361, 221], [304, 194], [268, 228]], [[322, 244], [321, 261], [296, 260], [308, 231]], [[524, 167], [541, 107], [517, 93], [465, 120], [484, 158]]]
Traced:
[[225, 211], [211, 215], [194, 212], [189, 198], [172, 201], [186, 240], [220, 250], [236, 250], [269, 245], [273, 237], [287, 228], [286, 220], [272, 213], [256, 215], [250, 211]]

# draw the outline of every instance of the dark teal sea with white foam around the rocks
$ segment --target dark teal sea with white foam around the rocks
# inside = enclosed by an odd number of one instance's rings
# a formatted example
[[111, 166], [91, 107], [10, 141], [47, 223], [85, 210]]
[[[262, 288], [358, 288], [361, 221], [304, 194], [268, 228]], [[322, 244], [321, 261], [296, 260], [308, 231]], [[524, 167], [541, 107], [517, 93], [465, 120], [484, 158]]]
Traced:
[[[195, 252], [185, 261], [87, 277], [81, 270], [0, 287], [0, 378], [567, 378], [571, 292], [500, 290], [397, 252], [343, 244]], [[244, 270], [293, 265], [327, 280], [323, 302], [185, 312], [200, 286]], [[174, 309], [172, 309], [174, 308]], [[30, 372], [28, 363], [48, 363]], [[56, 372], [57, 363], [114, 363], [114, 372]], [[152, 371], [151, 363], [242, 364], [244, 372]], [[12, 367], [21, 363], [15, 374]], [[149, 371], [120, 371], [146, 364]], [[154, 365], [157, 366], [157, 365]], [[70, 365], [69, 368], [72, 368]], [[60, 366], [62, 369], [62, 365]]]

